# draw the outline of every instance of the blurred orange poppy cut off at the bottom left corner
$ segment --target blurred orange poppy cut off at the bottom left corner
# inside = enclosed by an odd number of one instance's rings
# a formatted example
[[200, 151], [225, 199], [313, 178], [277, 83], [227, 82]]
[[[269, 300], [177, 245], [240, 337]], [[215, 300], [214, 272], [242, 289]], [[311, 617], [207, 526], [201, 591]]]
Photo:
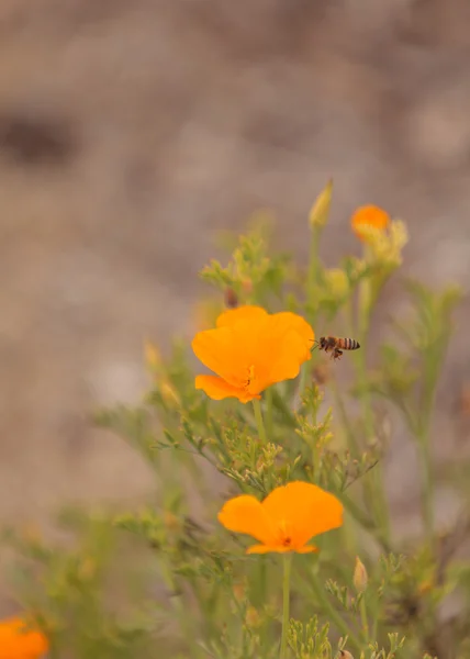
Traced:
[[44, 634], [31, 629], [23, 618], [0, 622], [0, 659], [40, 659], [48, 647]]

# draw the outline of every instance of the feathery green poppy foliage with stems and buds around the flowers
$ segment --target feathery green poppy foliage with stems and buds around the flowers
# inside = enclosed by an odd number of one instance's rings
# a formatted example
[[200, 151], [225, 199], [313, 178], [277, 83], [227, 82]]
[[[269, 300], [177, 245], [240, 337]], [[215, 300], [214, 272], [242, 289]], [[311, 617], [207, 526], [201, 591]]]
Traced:
[[[223, 529], [216, 513], [228, 495], [261, 498], [294, 479], [334, 492], [346, 520], [317, 538], [318, 555], [292, 561], [289, 656], [470, 657], [470, 562], [459, 556], [470, 523], [436, 527], [430, 451], [436, 388], [459, 291], [403, 281], [409, 317], [392, 323], [370, 367], [371, 319], [388, 279], [399, 275], [406, 232], [392, 223], [389, 237], [372, 235], [360, 257], [326, 268], [321, 238], [328, 230], [328, 186], [305, 223], [307, 268], [272, 254], [269, 227], [258, 222], [236, 241], [228, 264], [212, 261], [202, 278], [217, 291], [214, 309], [228, 301], [292, 310], [317, 337], [335, 327], [361, 349], [334, 365], [314, 350], [300, 378], [267, 390], [268, 443], [261, 444], [251, 405], [211, 401], [194, 389], [188, 345], [175, 343], [163, 358], [149, 344], [152, 382], [141, 406], [102, 410], [96, 422], [148, 463], [154, 500], [119, 514], [67, 511], [56, 543], [4, 532], [14, 549], [13, 591], [49, 636], [51, 657], [278, 657], [279, 557], [246, 556], [246, 541]], [[395, 537], [384, 492], [382, 462], [395, 427], [406, 427], [419, 455], [424, 533], [413, 540]], [[468, 489], [460, 493], [468, 498]], [[203, 504], [198, 515], [194, 498]], [[359, 590], [357, 556], [365, 570]], [[458, 613], [446, 617], [456, 596]]]

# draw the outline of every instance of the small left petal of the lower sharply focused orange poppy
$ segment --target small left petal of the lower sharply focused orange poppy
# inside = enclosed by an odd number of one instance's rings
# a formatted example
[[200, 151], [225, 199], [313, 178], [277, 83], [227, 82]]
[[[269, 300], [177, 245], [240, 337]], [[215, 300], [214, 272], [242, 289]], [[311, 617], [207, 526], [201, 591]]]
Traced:
[[228, 500], [217, 518], [228, 530], [253, 536], [267, 546], [276, 544], [276, 527], [255, 496], [242, 494]]

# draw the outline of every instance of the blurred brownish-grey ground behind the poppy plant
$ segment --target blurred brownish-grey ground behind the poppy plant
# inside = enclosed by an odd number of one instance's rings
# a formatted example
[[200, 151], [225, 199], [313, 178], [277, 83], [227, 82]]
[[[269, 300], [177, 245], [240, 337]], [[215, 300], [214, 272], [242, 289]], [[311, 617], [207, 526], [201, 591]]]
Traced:
[[[2, 521], [150, 491], [89, 415], [139, 399], [144, 338], [191, 336], [216, 233], [260, 209], [305, 263], [309, 209], [333, 176], [328, 265], [359, 254], [349, 216], [376, 203], [409, 223], [405, 273], [467, 290], [469, 24], [468, 0], [2, 0]], [[389, 286], [378, 340], [403, 304]], [[436, 409], [440, 462], [470, 453], [468, 323], [466, 299]], [[388, 474], [413, 529], [400, 436]], [[437, 505], [455, 506], [445, 488]]]

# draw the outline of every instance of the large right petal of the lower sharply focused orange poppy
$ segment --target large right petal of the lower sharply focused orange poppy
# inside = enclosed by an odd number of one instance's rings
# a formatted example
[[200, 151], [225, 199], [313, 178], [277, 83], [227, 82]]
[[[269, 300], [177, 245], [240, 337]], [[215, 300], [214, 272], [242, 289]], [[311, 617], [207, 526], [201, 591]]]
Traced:
[[296, 551], [313, 536], [343, 524], [340, 501], [313, 483], [294, 481], [277, 488], [261, 505], [278, 527], [291, 536]]

